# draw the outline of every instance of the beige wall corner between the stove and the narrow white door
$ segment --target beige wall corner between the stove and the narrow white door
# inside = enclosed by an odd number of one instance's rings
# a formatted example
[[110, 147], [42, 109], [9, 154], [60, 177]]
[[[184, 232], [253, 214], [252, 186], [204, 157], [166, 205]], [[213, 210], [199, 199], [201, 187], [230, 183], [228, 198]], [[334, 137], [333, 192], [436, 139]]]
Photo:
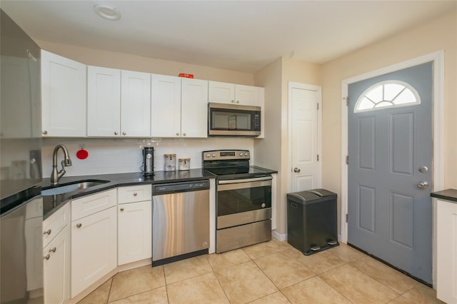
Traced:
[[278, 171], [276, 231], [287, 233], [288, 192], [288, 81], [319, 85], [318, 64], [281, 58], [254, 74], [256, 86], [265, 87], [266, 138], [254, 141], [256, 164]]

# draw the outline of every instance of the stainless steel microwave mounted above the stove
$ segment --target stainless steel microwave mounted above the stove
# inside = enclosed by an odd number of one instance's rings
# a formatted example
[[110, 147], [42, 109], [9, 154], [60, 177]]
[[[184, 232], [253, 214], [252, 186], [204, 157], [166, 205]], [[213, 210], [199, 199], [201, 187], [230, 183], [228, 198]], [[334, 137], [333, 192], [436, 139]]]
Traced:
[[261, 107], [226, 103], [208, 104], [209, 136], [259, 136]]

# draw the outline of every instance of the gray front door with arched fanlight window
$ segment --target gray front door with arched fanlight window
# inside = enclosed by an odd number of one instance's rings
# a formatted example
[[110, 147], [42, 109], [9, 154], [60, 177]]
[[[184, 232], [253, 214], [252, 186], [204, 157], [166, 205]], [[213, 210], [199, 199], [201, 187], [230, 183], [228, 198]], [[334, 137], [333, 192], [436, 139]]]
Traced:
[[348, 86], [348, 243], [426, 283], [432, 91], [433, 63]]

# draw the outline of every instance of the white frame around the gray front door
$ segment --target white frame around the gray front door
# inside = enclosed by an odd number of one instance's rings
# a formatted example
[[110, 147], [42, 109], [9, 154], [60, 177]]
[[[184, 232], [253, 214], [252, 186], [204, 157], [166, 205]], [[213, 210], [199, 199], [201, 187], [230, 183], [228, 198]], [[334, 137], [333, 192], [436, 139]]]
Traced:
[[[444, 51], [436, 51], [431, 54], [416, 57], [398, 64], [386, 66], [381, 69], [369, 71], [358, 76], [346, 78], [341, 81], [341, 234], [338, 239], [343, 243], [348, 243], [348, 223], [346, 214], [348, 213], [348, 165], [346, 156], [348, 155], [348, 86], [351, 83], [373, 78], [394, 71], [410, 68], [419, 64], [433, 61], [433, 100], [432, 100], [432, 189], [438, 191], [444, 188]], [[351, 159], [349, 159], [351, 161]], [[433, 218], [436, 216], [436, 208], [433, 208]], [[432, 283], [436, 285], [436, 240], [435, 221], [432, 218]]]

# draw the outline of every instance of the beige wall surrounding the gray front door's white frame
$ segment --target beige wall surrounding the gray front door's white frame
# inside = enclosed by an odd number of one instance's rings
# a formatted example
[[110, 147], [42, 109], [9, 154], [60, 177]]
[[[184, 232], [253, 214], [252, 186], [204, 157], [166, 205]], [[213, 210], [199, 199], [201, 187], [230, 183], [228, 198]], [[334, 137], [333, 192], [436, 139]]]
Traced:
[[444, 183], [457, 188], [457, 10], [323, 64], [323, 188], [341, 194], [341, 81], [439, 50], [445, 52]]

